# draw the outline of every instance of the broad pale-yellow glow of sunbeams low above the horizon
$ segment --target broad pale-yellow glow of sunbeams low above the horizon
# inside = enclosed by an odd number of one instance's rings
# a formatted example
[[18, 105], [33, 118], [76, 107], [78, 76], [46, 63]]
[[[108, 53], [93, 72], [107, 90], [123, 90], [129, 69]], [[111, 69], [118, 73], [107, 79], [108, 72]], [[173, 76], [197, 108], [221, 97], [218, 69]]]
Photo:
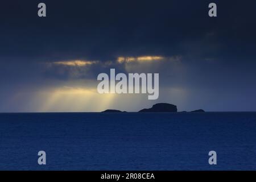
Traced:
[[43, 90], [40, 112], [102, 111], [111, 105], [115, 94], [98, 94], [96, 89], [63, 87]]

